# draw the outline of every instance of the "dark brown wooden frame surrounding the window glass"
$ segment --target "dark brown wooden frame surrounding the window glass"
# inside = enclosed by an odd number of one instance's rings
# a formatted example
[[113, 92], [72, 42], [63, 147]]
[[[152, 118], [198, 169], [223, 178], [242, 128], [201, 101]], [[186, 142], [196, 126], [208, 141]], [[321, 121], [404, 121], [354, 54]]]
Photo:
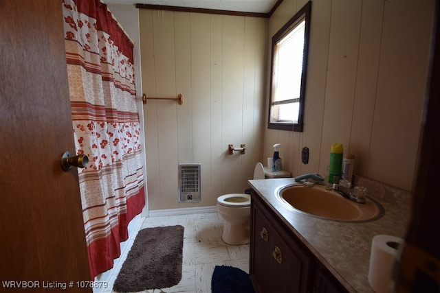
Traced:
[[[310, 15], [311, 15], [311, 1], [308, 1], [303, 8], [301, 8], [296, 14], [289, 19], [283, 27], [281, 27], [274, 36], [272, 36], [272, 54], [271, 54], [271, 69], [270, 69], [270, 97], [269, 97], [269, 115], [267, 117], [267, 128], [277, 129], [277, 130], [289, 130], [302, 132], [304, 126], [304, 102], [305, 102], [305, 86], [307, 82], [307, 61], [309, 58], [309, 38], [310, 38]], [[304, 47], [303, 47], [303, 71], [301, 73], [301, 85], [300, 85], [300, 97], [299, 97], [299, 113], [298, 113], [298, 123], [283, 123], [283, 122], [271, 122], [271, 112], [272, 112], [272, 99], [274, 98], [274, 53], [276, 51], [276, 43], [281, 40], [284, 36], [287, 36], [291, 32], [298, 20], [305, 18], [305, 33], [304, 33]]]

